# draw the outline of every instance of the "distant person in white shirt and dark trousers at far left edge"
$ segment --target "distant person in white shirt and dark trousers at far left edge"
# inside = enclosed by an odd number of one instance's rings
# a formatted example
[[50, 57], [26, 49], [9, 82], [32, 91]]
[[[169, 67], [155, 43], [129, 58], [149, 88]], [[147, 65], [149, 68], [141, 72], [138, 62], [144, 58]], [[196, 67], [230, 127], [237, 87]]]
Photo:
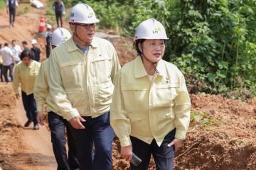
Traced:
[[0, 51], [0, 55], [2, 56], [3, 59], [3, 67], [4, 67], [4, 79], [6, 83], [9, 82], [7, 73], [9, 70], [9, 76], [11, 77], [11, 81], [14, 80], [14, 53], [11, 51], [11, 48], [8, 47], [8, 42], [4, 43], [4, 47]]

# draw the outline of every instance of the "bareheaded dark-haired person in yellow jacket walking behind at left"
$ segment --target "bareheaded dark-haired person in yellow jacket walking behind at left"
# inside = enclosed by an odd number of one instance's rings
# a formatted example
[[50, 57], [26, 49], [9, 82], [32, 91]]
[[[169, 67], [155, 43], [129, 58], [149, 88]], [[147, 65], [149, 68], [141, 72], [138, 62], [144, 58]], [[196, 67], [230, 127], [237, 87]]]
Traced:
[[22, 102], [28, 118], [24, 127], [28, 127], [33, 122], [33, 130], [38, 130], [39, 125], [36, 120], [36, 101], [33, 96], [33, 88], [39, 72], [40, 63], [33, 60], [32, 50], [21, 52], [21, 61], [14, 69], [14, 81], [12, 83], [16, 98], [19, 99], [18, 86], [21, 84]]

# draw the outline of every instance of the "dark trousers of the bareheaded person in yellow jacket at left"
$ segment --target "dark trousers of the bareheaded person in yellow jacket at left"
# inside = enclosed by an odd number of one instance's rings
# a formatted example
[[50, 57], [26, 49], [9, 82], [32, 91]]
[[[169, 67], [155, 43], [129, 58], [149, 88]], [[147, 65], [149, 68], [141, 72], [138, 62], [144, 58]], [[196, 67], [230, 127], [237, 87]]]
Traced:
[[33, 121], [34, 125], [37, 125], [38, 121], [36, 120], [36, 101], [33, 97], [33, 94], [26, 95], [24, 91], [21, 91], [21, 94], [23, 106], [25, 108], [28, 120]]

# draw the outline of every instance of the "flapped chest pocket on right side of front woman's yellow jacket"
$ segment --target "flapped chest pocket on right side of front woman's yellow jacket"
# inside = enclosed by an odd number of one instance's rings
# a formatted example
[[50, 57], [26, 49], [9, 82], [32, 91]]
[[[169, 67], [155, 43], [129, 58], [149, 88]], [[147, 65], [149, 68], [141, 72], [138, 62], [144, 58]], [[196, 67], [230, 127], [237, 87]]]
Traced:
[[172, 106], [177, 96], [178, 84], [162, 84], [156, 86], [155, 103], [157, 106]]

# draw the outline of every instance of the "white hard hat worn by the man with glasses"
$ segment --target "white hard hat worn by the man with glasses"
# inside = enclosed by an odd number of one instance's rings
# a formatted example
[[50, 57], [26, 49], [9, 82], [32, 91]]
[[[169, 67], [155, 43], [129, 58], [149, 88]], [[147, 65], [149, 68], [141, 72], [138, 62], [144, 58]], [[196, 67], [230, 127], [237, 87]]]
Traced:
[[79, 3], [71, 8], [68, 22], [90, 24], [98, 23], [100, 20], [96, 18], [92, 7], [88, 6], [87, 4]]

